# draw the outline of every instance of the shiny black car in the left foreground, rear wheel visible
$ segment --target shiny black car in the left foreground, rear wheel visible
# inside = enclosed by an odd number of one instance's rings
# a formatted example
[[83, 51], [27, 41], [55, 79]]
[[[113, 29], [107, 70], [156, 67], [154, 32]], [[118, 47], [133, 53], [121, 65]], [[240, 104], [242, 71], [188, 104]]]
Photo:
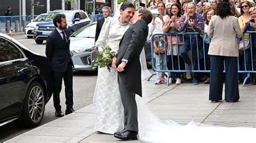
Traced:
[[0, 126], [16, 119], [29, 127], [41, 122], [52, 95], [49, 75], [45, 56], [0, 33]]

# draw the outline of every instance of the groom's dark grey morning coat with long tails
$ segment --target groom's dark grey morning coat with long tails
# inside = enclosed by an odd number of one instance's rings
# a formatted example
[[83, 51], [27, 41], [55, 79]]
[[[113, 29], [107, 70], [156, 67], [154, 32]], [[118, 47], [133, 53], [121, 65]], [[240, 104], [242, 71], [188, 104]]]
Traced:
[[124, 33], [117, 53], [116, 66], [122, 59], [128, 60], [124, 71], [118, 72], [126, 88], [134, 94], [142, 96], [142, 67], [139, 55], [145, 45], [149, 27], [144, 20], [139, 19]]

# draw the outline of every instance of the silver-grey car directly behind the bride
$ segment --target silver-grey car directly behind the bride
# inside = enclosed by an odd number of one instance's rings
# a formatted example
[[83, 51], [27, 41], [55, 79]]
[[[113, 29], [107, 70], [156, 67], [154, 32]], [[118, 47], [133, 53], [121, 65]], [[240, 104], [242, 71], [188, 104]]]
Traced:
[[[91, 23], [70, 37], [70, 54], [75, 66], [75, 70], [96, 70], [93, 68], [93, 60], [96, 58], [95, 52], [95, 32], [97, 22]], [[147, 65], [151, 65], [151, 45], [145, 44], [145, 55]]]

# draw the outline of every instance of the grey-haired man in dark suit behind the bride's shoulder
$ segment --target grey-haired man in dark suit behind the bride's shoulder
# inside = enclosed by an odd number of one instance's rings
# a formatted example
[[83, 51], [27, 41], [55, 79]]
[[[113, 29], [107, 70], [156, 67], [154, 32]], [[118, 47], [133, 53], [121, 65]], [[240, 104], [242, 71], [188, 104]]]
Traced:
[[105, 18], [109, 17], [110, 16], [110, 13], [111, 13], [111, 10], [110, 10], [110, 7], [109, 6], [104, 6], [103, 9], [103, 18], [100, 18], [98, 21], [97, 21], [97, 26], [96, 26], [96, 33], [95, 33], [95, 42], [98, 40], [99, 38], [99, 33], [100, 31], [102, 30], [102, 25], [104, 24], [105, 22]]

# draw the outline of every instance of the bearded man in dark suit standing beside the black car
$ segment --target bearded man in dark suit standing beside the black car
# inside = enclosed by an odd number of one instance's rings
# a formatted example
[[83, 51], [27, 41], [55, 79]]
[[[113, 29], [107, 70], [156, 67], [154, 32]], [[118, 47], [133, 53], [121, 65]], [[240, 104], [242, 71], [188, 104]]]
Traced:
[[62, 106], [60, 106], [59, 93], [62, 90], [62, 79], [65, 84], [66, 111], [68, 115], [73, 110], [73, 63], [70, 56], [70, 33], [66, 30], [66, 16], [56, 14], [53, 17], [53, 30], [46, 40], [45, 54], [52, 65], [55, 86], [53, 89], [53, 104], [55, 116], [63, 117]]

